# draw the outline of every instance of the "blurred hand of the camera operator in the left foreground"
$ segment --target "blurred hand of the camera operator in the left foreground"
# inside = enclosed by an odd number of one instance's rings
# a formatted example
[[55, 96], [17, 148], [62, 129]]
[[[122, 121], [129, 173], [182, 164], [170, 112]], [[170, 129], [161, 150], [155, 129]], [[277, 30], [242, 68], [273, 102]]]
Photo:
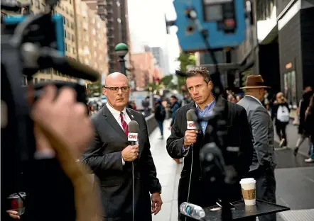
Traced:
[[46, 86], [33, 106], [31, 117], [38, 125], [35, 132], [40, 150], [49, 149], [48, 143], [58, 140], [78, 155], [94, 135], [87, 108], [77, 103], [76, 93], [70, 88], [60, 89], [57, 95], [55, 86]]

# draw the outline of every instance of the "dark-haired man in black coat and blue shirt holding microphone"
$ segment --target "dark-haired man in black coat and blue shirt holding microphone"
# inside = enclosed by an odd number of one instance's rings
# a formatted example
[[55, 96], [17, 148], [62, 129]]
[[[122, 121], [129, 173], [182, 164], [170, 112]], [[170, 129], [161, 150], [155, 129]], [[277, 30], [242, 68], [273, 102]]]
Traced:
[[[211, 183], [200, 163], [200, 149], [212, 142], [209, 135], [210, 125], [207, 121], [200, 123], [201, 130], [187, 130], [186, 113], [195, 109], [198, 116], [208, 117], [215, 107], [215, 98], [212, 95], [212, 81], [205, 67], [196, 67], [188, 72], [186, 85], [193, 102], [178, 109], [175, 122], [171, 128], [171, 135], [167, 140], [168, 154], [172, 158], [184, 158], [184, 166], [178, 187], [178, 206], [183, 202], [194, 203], [202, 207], [215, 205], [218, 188]], [[223, 100], [225, 103], [224, 115], [227, 115], [227, 145], [239, 147], [238, 157], [234, 158], [235, 169], [242, 179], [249, 172], [253, 145], [251, 132], [244, 108], [235, 103]], [[239, 180], [229, 186], [229, 200], [241, 200]], [[179, 215], [180, 220], [185, 220]]]

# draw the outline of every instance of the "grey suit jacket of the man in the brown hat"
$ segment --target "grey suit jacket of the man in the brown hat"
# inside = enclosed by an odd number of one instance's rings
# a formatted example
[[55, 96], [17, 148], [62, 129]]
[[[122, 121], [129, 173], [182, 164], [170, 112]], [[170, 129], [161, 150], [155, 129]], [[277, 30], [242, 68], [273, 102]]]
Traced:
[[276, 156], [274, 151], [274, 125], [264, 106], [251, 96], [244, 96], [238, 102], [247, 111], [247, 118], [253, 135], [254, 154], [250, 171], [274, 169]]

